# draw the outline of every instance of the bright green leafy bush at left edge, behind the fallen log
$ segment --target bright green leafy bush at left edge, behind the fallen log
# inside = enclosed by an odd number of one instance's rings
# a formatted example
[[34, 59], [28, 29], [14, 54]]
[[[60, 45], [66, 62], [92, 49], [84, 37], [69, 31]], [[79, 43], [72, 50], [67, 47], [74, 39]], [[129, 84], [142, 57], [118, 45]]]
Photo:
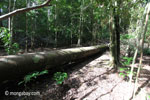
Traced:
[[8, 54], [16, 54], [19, 51], [18, 43], [11, 43], [11, 35], [7, 28], [0, 28], [0, 39], [4, 43], [5, 51]]

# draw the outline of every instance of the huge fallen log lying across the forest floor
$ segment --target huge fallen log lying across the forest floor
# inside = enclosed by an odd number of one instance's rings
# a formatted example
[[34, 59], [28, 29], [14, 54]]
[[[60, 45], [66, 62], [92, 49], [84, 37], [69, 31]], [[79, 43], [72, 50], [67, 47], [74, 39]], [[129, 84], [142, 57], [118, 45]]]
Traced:
[[0, 58], [0, 83], [16, 79], [32, 71], [55, 68], [65, 63], [86, 58], [108, 49], [107, 45], [61, 49]]

